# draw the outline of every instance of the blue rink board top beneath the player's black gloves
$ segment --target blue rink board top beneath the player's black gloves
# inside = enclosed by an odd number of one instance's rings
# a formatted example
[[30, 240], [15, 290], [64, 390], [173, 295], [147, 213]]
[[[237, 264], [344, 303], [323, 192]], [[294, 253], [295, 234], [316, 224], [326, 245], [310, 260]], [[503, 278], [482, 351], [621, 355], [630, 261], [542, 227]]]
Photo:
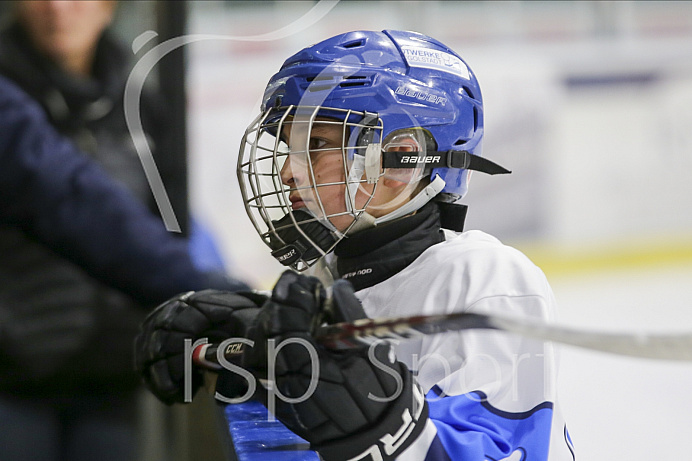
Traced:
[[281, 422], [269, 419], [259, 402], [227, 405], [223, 409], [238, 461], [318, 461], [309, 444]]

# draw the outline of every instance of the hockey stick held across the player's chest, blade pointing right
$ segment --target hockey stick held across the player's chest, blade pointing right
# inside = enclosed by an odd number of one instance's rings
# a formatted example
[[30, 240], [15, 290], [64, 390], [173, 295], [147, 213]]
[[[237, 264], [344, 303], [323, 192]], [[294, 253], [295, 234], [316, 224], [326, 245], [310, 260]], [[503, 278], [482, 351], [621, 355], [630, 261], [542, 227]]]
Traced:
[[[383, 339], [410, 339], [470, 329], [504, 331], [526, 338], [553, 341], [610, 354], [692, 361], [692, 333], [595, 332], [525, 319], [469, 313], [361, 319], [353, 323], [336, 323], [320, 327], [315, 340], [330, 349], [349, 349]], [[237, 360], [245, 347], [240, 342], [222, 344], [225, 349], [223, 355], [230, 361], [234, 358]], [[193, 362], [206, 368], [219, 369], [217, 350], [217, 345], [198, 346], [193, 351]]]

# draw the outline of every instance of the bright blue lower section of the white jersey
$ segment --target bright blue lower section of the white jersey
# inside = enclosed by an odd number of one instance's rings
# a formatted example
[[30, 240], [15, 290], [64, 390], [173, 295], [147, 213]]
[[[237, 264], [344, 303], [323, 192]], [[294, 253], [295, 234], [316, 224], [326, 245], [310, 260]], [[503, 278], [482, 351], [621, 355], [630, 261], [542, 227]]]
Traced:
[[[544, 402], [511, 413], [493, 407], [482, 392], [445, 396], [439, 388], [426, 395], [430, 418], [449, 459], [545, 461], [553, 406]], [[431, 450], [436, 442], [433, 441]], [[440, 447], [435, 446], [435, 450]], [[435, 458], [428, 454], [426, 460]]]

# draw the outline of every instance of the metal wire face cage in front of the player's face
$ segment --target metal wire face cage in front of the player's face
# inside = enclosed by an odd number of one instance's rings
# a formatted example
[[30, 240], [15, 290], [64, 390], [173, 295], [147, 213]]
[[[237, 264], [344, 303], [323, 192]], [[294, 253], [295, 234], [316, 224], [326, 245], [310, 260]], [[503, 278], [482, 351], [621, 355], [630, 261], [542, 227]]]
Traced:
[[273, 108], [250, 124], [238, 181], [245, 211], [279, 262], [307, 269], [358, 221], [382, 174], [382, 130], [376, 114], [323, 106]]

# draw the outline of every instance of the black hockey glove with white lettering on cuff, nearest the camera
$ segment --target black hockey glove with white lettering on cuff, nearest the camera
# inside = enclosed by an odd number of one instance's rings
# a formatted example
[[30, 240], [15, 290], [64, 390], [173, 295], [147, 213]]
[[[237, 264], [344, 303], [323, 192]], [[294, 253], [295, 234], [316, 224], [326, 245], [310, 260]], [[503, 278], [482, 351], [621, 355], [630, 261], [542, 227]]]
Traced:
[[[332, 312], [322, 312], [324, 301], [317, 279], [285, 272], [249, 331], [255, 345], [246, 349], [243, 367], [260, 380], [273, 381], [275, 387], [268, 389], [274, 391], [258, 386], [257, 395], [267, 408], [275, 405], [276, 417], [323, 459], [366, 459], [369, 454], [393, 460], [425, 425], [424, 397], [385, 342], [347, 351], [318, 345], [312, 332], [321, 318], [365, 317], [344, 280], [333, 285]], [[267, 352], [277, 349], [268, 360]]]

